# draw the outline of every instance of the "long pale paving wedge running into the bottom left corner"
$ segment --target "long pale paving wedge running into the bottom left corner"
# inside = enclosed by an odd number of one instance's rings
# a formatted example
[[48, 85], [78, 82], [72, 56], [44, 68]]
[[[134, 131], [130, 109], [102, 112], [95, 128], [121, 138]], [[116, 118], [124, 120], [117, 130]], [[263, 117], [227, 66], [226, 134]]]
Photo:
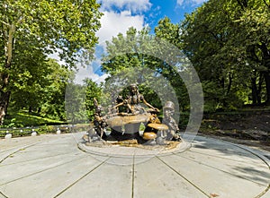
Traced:
[[0, 189], [8, 197], [51, 198], [76, 182], [77, 179], [85, 175], [86, 171], [93, 169], [98, 164], [99, 161], [87, 155], [83, 159], [72, 160], [62, 166], [43, 169], [43, 171], [21, 177], [6, 185], [0, 185]]

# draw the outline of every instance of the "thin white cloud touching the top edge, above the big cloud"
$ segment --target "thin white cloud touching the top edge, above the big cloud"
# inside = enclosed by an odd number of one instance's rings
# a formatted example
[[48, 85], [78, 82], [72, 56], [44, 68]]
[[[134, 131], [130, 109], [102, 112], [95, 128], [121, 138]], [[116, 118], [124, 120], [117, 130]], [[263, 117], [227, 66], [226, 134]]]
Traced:
[[149, 0], [99, 0], [99, 3], [105, 11], [112, 11], [114, 6], [121, 10], [130, 10], [132, 13], [148, 11], [152, 5]]

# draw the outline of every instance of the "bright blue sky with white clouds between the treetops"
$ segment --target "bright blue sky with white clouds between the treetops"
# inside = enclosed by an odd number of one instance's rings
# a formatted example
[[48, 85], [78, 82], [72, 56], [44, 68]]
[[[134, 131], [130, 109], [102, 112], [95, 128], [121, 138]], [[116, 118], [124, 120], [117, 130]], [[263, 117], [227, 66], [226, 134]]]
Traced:
[[184, 19], [184, 13], [193, 10], [207, 0], [97, 0], [102, 6], [101, 29], [97, 31], [99, 46], [96, 50], [96, 60], [85, 68], [80, 68], [76, 74], [76, 82], [82, 83], [83, 79], [91, 78], [95, 82], [102, 82], [106, 77], [100, 72], [100, 54], [106, 40], [112, 39], [118, 33], [125, 33], [131, 26], [141, 30], [149, 26], [151, 30], [157, 22], [165, 16], [171, 22], [177, 23]]

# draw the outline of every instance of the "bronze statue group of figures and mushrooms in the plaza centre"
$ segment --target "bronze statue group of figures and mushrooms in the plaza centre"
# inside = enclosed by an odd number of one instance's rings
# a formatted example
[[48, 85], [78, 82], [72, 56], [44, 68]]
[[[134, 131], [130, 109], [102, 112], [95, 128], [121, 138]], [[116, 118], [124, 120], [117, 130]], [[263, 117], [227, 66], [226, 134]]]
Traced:
[[[172, 101], [166, 101], [163, 107], [164, 116], [161, 123], [157, 117], [159, 109], [154, 108], [144, 99], [143, 95], [139, 93], [137, 84], [130, 84], [129, 90], [130, 93], [126, 99], [118, 96], [115, 105], [109, 108], [108, 114], [104, 116], [102, 107], [94, 99], [94, 128], [88, 132], [89, 142], [129, 139], [136, 139], [139, 143], [153, 145], [166, 144], [169, 141], [180, 142], [179, 127], [173, 117], [175, 104]], [[148, 109], [144, 108], [142, 104]], [[145, 125], [142, 135], [139, 135], [140, 123]], [[135, 128], [132, 133], [128, 132], [130, 126], [132, 130]], [[105, 133], [108, 127], [111, 129], [109, 134]]]

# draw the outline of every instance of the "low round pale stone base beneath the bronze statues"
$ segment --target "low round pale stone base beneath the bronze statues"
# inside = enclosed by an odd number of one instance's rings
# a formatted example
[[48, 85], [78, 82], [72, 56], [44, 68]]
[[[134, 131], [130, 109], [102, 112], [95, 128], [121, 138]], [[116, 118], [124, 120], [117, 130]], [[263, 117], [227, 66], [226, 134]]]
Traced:
[[89, 153], [95, 159], [104, 160], [118, 165], [130, 165], [136, 160], [136, 163], [148, 159], [188, 151], [191, 148], [190, 142], [169, 141], [166, 145], [146, 145], [139, 144], [136, 140], [120, 142], [80, 142], [78, 148]]

